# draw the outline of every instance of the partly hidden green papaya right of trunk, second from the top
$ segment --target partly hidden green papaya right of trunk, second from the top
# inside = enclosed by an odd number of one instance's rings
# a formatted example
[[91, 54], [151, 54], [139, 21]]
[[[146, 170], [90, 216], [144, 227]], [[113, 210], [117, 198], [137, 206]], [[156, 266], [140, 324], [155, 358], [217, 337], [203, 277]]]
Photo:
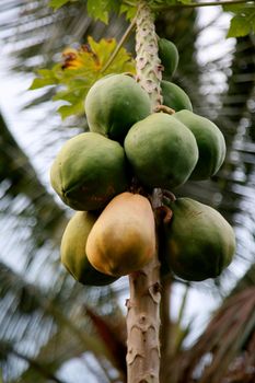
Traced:
[[193, 112], [193, 105], [188, 95], [170, 81], [161, 81], [163, 95], [163, 105], [166, 105], [175, 112], [187, 109]]

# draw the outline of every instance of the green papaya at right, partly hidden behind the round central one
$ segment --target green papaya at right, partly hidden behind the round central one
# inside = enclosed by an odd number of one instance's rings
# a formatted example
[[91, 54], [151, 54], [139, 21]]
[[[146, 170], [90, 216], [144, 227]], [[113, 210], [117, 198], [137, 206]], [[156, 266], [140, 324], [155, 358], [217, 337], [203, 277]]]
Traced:
[[173, 115], [194, 134], [199, 159], [190, 179], [207, 179], [215, 175], [225, 158], [225, 141], [220, 129], [208, 118], [189, 111], [179, 111]]

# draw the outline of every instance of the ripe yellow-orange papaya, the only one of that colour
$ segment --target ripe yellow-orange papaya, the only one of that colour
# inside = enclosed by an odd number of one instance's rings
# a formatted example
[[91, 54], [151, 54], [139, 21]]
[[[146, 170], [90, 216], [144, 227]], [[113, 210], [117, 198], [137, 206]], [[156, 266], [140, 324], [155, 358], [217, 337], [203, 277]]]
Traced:
[[85, 249], [91, 265], [109, 276], [125, 276], [146, 266], [155, 253], [149, 200], [128, 192], [114, 197], [93, 225]]

